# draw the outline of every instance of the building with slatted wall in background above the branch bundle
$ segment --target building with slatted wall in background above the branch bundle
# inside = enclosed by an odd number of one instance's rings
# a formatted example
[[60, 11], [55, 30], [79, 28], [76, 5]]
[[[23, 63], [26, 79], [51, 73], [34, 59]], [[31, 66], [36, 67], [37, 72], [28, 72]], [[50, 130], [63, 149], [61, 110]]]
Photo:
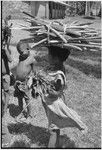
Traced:
[[31, 14], [46, 19], [62, 19], [65, 17], [66, 7], [70, 5], [59, 1], [31, 1]]

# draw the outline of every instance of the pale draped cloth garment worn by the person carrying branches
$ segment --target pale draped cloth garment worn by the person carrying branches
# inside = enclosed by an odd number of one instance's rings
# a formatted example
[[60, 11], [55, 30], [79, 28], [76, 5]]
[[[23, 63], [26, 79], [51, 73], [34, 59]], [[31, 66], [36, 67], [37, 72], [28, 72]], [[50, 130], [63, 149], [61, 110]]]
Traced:
[[[50, 74], [53, 76], [53, 74]], [[62, 89], [65, 86], [65, 75], [61, 71], [54, 74], [57, 80], [61, 80]], [[53, 76], [53, 77], [54, 77]], [[65, 127], [76, 127], [79, 130], [87, 130], [86, 125], [82, 122], [81, 117], [71, 108], [69, 108], [59, 96], [46, 94], [42, 97], [42, 103], [46, 111], [50, 129]]]

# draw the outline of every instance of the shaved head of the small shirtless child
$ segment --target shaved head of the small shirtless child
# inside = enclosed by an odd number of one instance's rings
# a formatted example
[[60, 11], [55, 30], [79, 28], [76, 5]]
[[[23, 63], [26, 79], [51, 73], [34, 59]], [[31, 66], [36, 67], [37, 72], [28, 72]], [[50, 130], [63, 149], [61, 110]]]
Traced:
[[20, 55], [23, 55], [23, 54], [29, 54], [29, 44], [28, 43], [25, 43], [24, 41], [19, 41], [17, 43], [17, 51]]

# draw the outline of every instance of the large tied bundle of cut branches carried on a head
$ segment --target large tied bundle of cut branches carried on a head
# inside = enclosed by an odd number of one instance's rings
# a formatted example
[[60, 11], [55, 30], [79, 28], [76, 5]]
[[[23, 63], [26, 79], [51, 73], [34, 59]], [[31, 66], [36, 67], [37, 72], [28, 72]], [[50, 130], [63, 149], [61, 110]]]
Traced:
[[101, 50], [101, 36], [94, 28], [90, 28], [92, 22], [63, 23], [57, 20], [36, 18], [26, 12], [23, 13], [28, 16], [25, 21], [33, 23], [34, 26], [23, 26], [22, 29], [32, 31], [32, 38], [40, 39], [32, 47], [43, 43], [81, 51], [87, 49]]

